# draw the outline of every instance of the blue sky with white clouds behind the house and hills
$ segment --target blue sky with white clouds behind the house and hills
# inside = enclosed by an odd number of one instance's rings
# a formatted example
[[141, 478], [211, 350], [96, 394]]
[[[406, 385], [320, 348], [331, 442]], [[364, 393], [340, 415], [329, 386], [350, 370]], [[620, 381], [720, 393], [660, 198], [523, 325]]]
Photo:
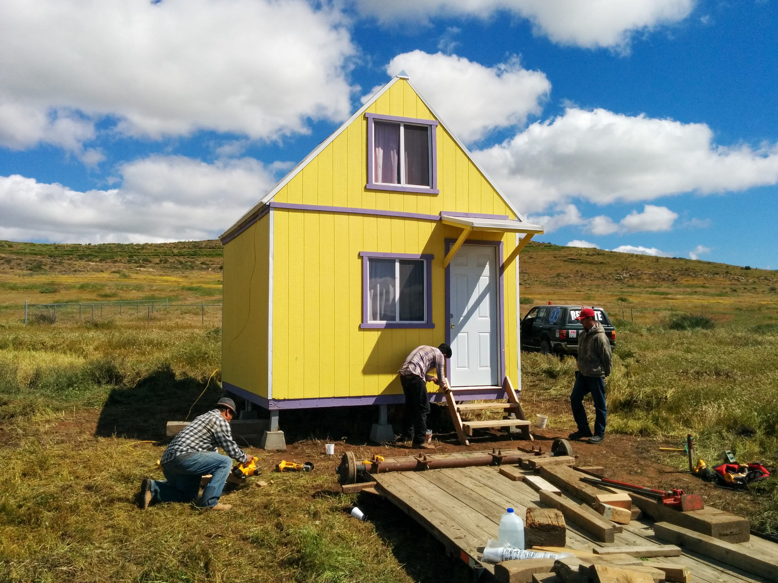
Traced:
[[540, 240], [778, 268], [778, 11], [9, 0], [0, 238], [219, 235], [405, 69]]

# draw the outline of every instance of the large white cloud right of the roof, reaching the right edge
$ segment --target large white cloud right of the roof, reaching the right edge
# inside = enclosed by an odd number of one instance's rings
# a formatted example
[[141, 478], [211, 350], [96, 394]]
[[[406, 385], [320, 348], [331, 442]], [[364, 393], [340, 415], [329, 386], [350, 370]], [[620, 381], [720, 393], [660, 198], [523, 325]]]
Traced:
[[706, 124], [570, 108], [473, 155], [521, 211], [745, 190], [778, 182], [778, 146], [713, 144]]

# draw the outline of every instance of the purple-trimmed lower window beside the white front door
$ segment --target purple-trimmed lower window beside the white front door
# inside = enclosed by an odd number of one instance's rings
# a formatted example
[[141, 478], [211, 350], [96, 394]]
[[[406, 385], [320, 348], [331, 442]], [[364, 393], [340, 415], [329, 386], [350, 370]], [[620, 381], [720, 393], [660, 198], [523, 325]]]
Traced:
[[363, 257], [363, 328], [433, 328], [431, 255]]

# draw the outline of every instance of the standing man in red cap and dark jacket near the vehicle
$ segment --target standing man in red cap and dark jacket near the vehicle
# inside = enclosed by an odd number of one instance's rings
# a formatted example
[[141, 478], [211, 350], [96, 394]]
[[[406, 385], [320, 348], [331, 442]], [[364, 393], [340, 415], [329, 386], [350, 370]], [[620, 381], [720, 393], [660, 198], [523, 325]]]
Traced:
[[[589, 438], [589, 443], [605, 439], [605, 423], [608, 409], [605, 407], [605, 377], [611, 374], [611, 343], [597, 315], [591, 308], [583, 308], [576, 319], [584, 326], [578, 333], [578, 370], [573, 393], [570, 393], [570, 408], [578, 429], [569, 435], [570, 439]], [[594, 435], [589, 428], [584, 396], [591, 393], [594, 401]]]

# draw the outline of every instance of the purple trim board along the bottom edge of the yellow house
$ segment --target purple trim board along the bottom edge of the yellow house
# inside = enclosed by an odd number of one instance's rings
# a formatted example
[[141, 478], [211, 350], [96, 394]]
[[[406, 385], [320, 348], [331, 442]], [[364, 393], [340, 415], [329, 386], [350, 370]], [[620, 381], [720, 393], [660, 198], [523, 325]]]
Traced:
[[[222, 386], [230, 393], [243, 397], [255, 405], [259, 405], [265, 410], [284, 410], [284, 409], [317, 409], [321, 407], [359, 407], [369, 405], [393, 405], [405, 403], [405, 395], [384, 394], [384, 395], [366, 395], [366, 396], [333, 396], [333, 397], [314, 397], [312, 399], [266, 399], [250, 393], [245, 389], [231, 385], [229, 382], [222, 382]], [[470, 389], [468, 391], [457, 391], [458, 401], [474, 401], [482, 399], [504, 399], [505, 391], [495, 389], [494, 387], [485, 387], [484, 389]], [[440, 402], [446, 400], [446, 393], [429, 393], [429, 400]]]

